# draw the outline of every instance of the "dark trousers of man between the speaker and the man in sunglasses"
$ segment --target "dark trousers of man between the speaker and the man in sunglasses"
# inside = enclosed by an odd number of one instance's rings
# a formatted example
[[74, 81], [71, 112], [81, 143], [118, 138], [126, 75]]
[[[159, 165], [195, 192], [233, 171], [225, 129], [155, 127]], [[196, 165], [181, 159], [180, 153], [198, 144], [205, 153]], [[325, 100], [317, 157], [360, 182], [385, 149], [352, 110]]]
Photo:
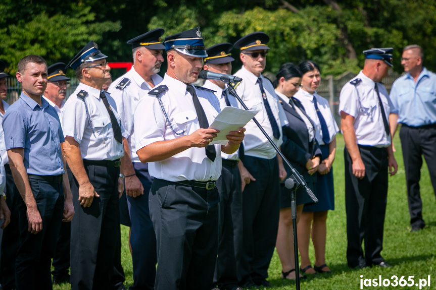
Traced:
[[241, 280], [239, 268], [243, 250], [242, 191], [237, 165], [223, 164], [216, 186], [220, 202], [218, 204], [218, 258], [214, 284], [217, 284], [219, 288], [231, 289], [236, 287]]

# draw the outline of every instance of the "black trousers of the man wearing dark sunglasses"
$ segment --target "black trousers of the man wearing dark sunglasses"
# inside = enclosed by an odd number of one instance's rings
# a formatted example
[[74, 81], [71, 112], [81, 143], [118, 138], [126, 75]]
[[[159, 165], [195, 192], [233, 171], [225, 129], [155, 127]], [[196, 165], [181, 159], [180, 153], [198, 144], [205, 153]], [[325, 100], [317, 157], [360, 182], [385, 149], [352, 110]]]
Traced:
[[245, 156], [244, 166], [256, 181], [243, 192], [242, 283], [268, 277], [268, 267], [277, 239], [280, 212], [280, 183], [277, 157], [272, 159]]

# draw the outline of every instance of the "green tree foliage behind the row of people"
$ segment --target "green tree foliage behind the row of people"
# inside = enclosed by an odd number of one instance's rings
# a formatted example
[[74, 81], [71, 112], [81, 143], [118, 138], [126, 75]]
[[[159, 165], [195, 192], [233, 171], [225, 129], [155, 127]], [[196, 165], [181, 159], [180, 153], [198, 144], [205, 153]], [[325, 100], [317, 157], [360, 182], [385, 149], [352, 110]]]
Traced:
[[198, 25], [207, 46], [264, 31], [272, 48], [266, 70], [273, 73], [305, 59], [317, 62], [323, 76], [357, 73], [370, 47], [394, 47], [394, 70], [401, 73], [408, 44], [421, 45], [424, 65], [436, 70], [434, 0], [2, 0], [0, 59], [11, 73], [27, 54], [49, 65], [68, 63], [93, 39], [110, 62], [126, 62], [127, 40], [156, 27], [168, 36]]

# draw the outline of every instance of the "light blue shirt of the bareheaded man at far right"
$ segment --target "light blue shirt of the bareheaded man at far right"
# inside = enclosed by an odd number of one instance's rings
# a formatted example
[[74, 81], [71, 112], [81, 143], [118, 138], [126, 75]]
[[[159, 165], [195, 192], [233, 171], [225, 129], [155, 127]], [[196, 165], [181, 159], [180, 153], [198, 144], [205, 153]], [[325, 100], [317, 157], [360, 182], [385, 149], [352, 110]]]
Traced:
[[398, 123], [412, 127], [436, 123], [436, 74], [422, 69], [418, 80], [407, 73], [398, 78], [391, 89], [393, 113]]

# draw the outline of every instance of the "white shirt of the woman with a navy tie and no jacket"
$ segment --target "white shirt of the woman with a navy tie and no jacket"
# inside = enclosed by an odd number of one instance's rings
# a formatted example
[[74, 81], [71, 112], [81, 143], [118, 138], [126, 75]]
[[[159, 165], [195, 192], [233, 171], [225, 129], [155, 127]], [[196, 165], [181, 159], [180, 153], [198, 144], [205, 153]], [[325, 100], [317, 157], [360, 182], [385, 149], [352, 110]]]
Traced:
[[334, 117], [330, 110], [330, 106], [328, 105], [328, 101], [325, 98], [318, 95], [316, 92], [314, 94], [311, 94], [303, 89], [298, 90], [295, 93], [294, 98], [296, 98], [301, 102], [307, 115], [315, 124], [316, 141], [318, 142], [318, 144], [324, 145], [324, 141], [322, 141], [321, 123], [319, 123], [318, 114], [316, 113], [315, 104], [314, 104], [315, 101], [314, 98], [316, 98], [316, 101], [318, 103], [318, 109], [321, 112], [322, 117], [324, 117], [325, 123], [327, 124], [330, 140], [332, 140], [333, 137], [336, 136], [336, 133], [339, 132], [339, 127], [337, 127], [336, 121], [334, 121]]

